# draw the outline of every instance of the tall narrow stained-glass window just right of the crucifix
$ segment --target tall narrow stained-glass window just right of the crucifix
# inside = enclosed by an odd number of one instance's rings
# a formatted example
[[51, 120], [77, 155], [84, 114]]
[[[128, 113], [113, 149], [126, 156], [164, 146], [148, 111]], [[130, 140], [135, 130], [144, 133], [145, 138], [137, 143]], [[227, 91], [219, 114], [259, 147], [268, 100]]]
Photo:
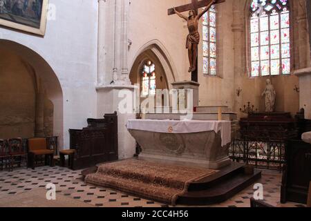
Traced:
[[216, 75], [216, 8], [211, 6], [202, 21], [203, 74]]

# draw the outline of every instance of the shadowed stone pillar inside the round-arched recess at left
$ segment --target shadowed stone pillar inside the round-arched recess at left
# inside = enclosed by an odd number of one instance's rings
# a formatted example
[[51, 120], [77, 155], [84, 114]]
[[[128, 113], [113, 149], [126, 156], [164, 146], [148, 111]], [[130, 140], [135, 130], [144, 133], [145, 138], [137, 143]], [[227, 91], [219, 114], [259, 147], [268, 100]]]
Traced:
[[35, 137], [44, 137], [44, 90], [37, 79]]

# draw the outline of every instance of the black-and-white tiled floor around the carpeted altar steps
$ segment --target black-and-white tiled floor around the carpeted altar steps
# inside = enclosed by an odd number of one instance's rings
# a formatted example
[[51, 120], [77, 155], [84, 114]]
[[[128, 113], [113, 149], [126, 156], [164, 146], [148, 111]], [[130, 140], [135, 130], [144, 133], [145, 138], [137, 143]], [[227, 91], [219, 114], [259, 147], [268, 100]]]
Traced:
[[[39, 167], [32, 171], [31, 169], [15, 169], [13, 172], [0, 171], [0, 201], [15, 200], [20, 194], [36, 193], [38, 190], [44, 190], [46, 184], [53, 183], [56, 186], [57, 195], [70, 200], [79, 200], [87, 206], [104, 206], [104, 207], [167, 207], [141, 198], [135, 198], [111, 189], [101, 189], [95, 186], [84, 184], [81, 180], [80, 171], [70, 171], [60, 167], [50, 168], [47, 166]], [[263, 184], [264, 201], [272, 206], [281, 207], [301, 207], [302, 204], [289, 202], [281, 204], [281, 174], [271, 171], [263, 171], [263, 177], [258, 183]], [[45, 191], [41, 191], [45, 193]], [[221, 204], [212, 205], [213, 207], [249, 207], [249, 198], [254, 195], [253, 186], [245, 189], [234, 198], [227, 200]], [[64, 205], [64, 203], [62, 203]], [[0, 206], [7, 206], [5, 203]], [[9, 205], [10, 206], [10, 205]], [[42, 204], [41, 206], [44, 206]], [[68, 204], [68, 206], [70, 206]]]

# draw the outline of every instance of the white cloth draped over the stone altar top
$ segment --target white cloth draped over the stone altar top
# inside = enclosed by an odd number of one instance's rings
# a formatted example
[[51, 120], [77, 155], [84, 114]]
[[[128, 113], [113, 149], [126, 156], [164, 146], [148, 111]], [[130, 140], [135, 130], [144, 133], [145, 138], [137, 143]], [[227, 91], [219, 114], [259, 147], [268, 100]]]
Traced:
[[129, 119], [126, 128], [155, 133], [200, 133], [206, 131], [218, 133], [220, 131], [221, 146], [226, 146], [231, 142], [231, 122], [229, 121]]

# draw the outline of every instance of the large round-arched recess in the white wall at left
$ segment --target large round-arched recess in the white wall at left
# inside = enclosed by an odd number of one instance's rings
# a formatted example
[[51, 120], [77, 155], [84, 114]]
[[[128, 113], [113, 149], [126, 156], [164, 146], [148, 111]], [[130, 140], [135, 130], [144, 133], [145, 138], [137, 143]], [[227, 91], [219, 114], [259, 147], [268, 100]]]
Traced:
[[64, 143], [63, 93], [37, 52], [0, 39], [0, 138], [59, 137]]

